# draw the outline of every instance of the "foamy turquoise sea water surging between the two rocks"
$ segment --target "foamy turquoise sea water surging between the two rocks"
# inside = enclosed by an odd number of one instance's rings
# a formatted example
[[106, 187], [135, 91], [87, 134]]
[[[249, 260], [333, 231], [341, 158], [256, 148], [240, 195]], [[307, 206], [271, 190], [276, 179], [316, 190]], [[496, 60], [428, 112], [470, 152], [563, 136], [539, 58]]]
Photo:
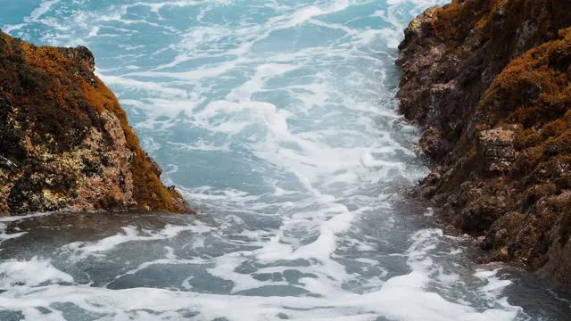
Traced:
[[406, 199], [402, 30], [442, 0], [0, 0], [87, 45], [197, 217], [0, 219], [0, 320], [568, 320], [539, 276], [476, 265]]

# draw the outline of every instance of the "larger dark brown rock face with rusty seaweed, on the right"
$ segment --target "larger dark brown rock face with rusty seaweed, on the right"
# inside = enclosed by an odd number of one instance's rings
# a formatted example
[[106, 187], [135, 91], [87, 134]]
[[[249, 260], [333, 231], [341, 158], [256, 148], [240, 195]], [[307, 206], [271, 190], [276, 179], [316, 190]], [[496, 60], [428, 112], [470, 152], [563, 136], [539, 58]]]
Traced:
[[453, 0], [410, 22], [397, 64], [434, 171], [418, 193], [518, 261], [571, 286], [571, 2]]

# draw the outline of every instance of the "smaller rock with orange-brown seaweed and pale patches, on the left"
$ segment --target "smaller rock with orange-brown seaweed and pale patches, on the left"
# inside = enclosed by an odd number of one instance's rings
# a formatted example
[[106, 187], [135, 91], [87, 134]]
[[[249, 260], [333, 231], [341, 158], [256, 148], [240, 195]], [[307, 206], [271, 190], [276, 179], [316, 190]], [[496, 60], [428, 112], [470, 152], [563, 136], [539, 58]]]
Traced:
[[86, 47], [0, 31], [0, 215], [47, 210], [190, 212], [95, 77]]

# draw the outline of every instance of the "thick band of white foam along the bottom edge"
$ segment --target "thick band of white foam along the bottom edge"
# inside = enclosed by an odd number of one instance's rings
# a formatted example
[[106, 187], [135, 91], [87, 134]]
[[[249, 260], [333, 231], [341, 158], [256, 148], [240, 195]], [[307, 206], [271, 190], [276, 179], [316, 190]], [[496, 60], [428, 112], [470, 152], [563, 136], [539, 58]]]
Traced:
[[[38, 304], [49, 306], [55, 302], [68, 301], [80, 309], [104, 313], [114, 316], [115, 319], [137, 318], [137, 311], [152, 310], [154, 320], [165, 320], [169, 317], [180, 317], [180, 314], [173, 311], [190, 309], [199, 311], [201, 319], [226, 317], [231, 321], [277, 320], [278, 313], [285, 313], [289, 319], [294, 320], [359, 320], [381, 315], [389, 319], [426, 321], [503, 321], [513, 320], [517, 314], [517, 309], [487, 309], [477, 312], [475, 309], [444, 300], [434, 293], [422, 292], [414, 281], [423, 282], [424, 278], [410, 275], [407, 280], [396, 279], [383, 285], [382, 290], [378, 292], [345, 294], [335, 298], [256, 298], [150, 288], [112, 291], [87, 286], [51, 286], [42, 292], [31, 292], [25, 298], [4, 295], [0, 298], [0, 308], [22, 310], [34, 308]], [[94, 297], [98, 298], [97, 302], [91, 300]], [[104, 304], [101, 304], [102, 302]], [[228, 314], [228, 311], [234, 313]]]

